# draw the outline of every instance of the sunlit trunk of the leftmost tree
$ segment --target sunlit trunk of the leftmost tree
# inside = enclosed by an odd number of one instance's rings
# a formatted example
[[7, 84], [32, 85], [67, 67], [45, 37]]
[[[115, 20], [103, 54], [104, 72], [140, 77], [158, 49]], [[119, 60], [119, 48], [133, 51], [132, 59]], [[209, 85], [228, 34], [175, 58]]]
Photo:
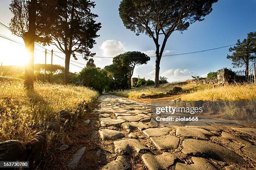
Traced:
[[34, 88], [34, 47], [35, 47], [35, 32], [36, 32], [36, 3], [37, 0], [31, 0], [28, 9], [28, 32], [24, 36], [26, 49], [29, 53], [29, 60], [25, 66], [25, 81], [24, 86], [29, 89]]

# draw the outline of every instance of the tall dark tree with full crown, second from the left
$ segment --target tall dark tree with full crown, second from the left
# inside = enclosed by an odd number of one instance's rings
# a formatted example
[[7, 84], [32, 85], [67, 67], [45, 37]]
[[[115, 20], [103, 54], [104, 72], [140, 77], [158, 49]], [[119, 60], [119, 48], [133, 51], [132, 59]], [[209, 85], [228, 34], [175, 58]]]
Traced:
[[99, 37], [97, 31], [101, 23], [96, 23], [98, 15], [91, 12], [95, 3], [90, 0], [63, 0], [56, 8], [58, 17], [56, 23], [51, 26], [53, 42], [65, 53], [64, 83], [69, 81], [69, 62], [71, 55], [77, 60], [75, 52], [84, 54], [83, 58], [93, 57], [95, 53], [90, 49], [95, 44], [95, 38]]

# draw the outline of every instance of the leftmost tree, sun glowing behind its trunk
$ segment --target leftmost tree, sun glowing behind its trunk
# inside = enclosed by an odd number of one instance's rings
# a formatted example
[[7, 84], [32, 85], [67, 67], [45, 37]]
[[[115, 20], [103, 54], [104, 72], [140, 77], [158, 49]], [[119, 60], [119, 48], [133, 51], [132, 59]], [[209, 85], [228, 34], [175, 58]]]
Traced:
[[24, 82], [27, 88], [34, 87], [34, 43], [41, 42], [45, 45], [50, 42], [49, 28], [54, 20], [53, 9], [56, 5], [57, 0], [13, 0], [10, 4], [10, 11], [13, 13], [10, 30], [23, 38], [29, 53]]

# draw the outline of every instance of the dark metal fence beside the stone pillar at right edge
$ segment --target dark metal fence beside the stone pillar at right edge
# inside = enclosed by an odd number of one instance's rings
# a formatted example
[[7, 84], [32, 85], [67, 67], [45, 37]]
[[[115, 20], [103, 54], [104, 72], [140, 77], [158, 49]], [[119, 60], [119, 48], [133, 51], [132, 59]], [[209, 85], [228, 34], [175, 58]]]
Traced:
[[248, 70], [239, 70], [231, 73], [231, 79], [238, 83], [256, 83], [255, 63]]

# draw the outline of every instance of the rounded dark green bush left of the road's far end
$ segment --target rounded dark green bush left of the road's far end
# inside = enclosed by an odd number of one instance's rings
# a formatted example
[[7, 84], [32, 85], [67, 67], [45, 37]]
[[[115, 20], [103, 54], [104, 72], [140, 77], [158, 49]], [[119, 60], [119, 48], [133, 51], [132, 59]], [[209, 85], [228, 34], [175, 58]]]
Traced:
[[92, 87], [99, 92], [102, 92], [105, 85], [108, 85], [107, 72], [96, 67], [84, 67], [77, 78], [85, 87]]

